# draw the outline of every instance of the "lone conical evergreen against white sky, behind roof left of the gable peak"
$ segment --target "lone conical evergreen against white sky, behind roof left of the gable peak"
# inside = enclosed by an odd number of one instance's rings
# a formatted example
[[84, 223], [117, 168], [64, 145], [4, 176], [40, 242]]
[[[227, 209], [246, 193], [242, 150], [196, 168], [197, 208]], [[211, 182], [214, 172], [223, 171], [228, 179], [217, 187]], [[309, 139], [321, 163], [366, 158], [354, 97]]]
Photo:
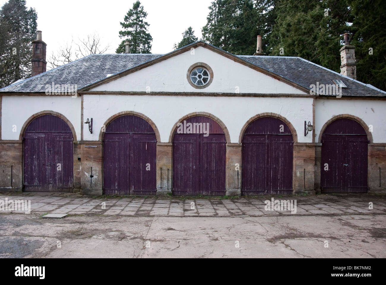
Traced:
[[151, 41], [153, 40], [147, 32], [149, 24], [144, 20], [147, 13], [141, 2], [133, 4], [133, 8], [127, 12], [124, 21], [120, 22], [123, 31], [119, 31], [119, 37], [125, 38], [115, 51], [116, 53], [125, 53], [125, 41], [130, 43], [130, 53], [150, 53]]

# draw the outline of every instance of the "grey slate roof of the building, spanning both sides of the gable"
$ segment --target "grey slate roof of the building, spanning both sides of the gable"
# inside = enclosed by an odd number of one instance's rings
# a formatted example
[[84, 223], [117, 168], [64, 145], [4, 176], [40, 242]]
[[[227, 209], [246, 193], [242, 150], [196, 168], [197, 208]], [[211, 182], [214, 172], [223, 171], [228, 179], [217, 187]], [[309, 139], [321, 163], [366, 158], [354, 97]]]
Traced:
[[[241, 64], [284, 81], [300, 90], [310, 90], [310, 85], [334, 84], [332, 80], [342, 80], [347, 88], [342, 88], [343, 96], [385, 97], [386, 92], [366, 85], [347, 76], [328, 70], [299, 57], [289, 56], [235, 56], [218, 47], [202, 41], [195, 42], [168, 54], [92, 54], [34, 77], [16, 82], [0, 89], [6, 93], [44, 93], [47, 84], [76, 84], [79, 91], [135, 72], [146, 66], [189, 51], [192, 47], [203, 46], [227, 56]], [[332, 95], [334, 96], [334, 95]]]

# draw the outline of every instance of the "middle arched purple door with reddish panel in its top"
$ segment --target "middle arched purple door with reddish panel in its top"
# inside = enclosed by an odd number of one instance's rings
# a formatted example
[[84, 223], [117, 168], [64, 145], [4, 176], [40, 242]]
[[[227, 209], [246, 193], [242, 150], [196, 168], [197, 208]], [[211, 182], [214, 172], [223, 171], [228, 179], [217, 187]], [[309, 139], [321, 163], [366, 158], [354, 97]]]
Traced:
[[214, 120], [181, 122], [173, 137], [173, 194], [225, 195], [226, 139]]

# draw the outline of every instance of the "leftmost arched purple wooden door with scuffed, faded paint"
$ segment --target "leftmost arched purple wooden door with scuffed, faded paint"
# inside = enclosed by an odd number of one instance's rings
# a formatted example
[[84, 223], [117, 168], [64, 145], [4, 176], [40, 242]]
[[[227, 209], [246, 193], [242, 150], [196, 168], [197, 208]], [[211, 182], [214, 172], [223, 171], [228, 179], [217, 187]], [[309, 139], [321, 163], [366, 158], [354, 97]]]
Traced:
[[24, 132], [24, 191], [73, 192], [73, 135], [54, 115], [34, 119]]

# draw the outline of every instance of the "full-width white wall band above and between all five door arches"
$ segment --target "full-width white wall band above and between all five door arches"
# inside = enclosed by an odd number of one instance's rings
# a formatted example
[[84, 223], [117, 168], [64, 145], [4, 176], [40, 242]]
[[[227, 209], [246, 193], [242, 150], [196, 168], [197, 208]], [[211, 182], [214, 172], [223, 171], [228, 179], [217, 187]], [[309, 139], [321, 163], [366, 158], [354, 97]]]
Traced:
[[[168, 142], [174, 124], [186, 114], [208, 112], [227, 126], [231, 142], [238, 142], [240, 130], [251, 117], [273, 112], [291, 122], [299, 142], [312, 142], [304, 136], [304, 121], [312, 122], [312, 98], [289, 97], [203, 97], [154, 95], [84, 95], [84, 118], [93, 118], [93, 134], [84, 129], [84, 139], [97, 141], [100, 127], [111, 116], [122, 111], [135, 111], [156, 124], [162, 142]], [[63, 96], [3, 96], [2, 139], [18, 140], [25, 121], [38, 112], [52, 110], [63, 114], [74, 126], [80, 140], [81, 98]], [[315, 140], [322, 126], [332, 117], [351, 114], [373, 126], [373, 141], [386, 142], [386, 101], [317, 99], [315, 103]], [[12, 126], [17, 131], [12, 132]]]

